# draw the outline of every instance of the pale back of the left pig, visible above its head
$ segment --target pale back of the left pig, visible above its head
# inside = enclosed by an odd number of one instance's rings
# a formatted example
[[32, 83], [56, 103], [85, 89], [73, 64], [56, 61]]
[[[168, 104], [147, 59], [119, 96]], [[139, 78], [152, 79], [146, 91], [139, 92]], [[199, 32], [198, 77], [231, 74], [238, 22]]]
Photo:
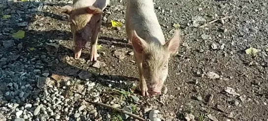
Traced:
[[106, 8], [110, 0], [74, 0], [73, 4], [76, 8], [87, 7], [93, 5], [102, 10]]

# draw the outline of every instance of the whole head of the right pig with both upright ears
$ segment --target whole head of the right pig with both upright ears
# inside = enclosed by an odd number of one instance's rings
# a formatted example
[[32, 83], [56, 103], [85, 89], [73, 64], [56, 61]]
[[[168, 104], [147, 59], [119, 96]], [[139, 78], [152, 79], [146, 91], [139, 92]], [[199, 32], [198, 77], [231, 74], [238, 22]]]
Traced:
[[180, 31], [177, 30], [176, 34], [162, 45], [158, 41], [153, 41], [153, 38], [146, 42], [135, 30], [132, 33], [132, 45], [137, 53], [142, 54], [142, 73], [151, 95], [161, 94], [168, 76], [169, 58], [179, 49], [179, 34]]

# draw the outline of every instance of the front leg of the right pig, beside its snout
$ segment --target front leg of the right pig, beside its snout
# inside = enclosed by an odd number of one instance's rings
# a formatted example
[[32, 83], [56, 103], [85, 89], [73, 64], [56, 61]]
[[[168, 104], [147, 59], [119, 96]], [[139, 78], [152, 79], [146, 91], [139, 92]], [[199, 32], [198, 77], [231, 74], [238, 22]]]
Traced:
[[142, 61], [138, 58], [139, 57], [137, 57], [137, 55], [136, 55], [135, 60], [136, 60], [136, 63], [137, 63], [138, 69], [139, 69], [140, 89], [142, 92], [142, 96], [149, 96], [147, 84], [146, 84], [145, 78], [144, 78], [143, 73], [142, 73]]

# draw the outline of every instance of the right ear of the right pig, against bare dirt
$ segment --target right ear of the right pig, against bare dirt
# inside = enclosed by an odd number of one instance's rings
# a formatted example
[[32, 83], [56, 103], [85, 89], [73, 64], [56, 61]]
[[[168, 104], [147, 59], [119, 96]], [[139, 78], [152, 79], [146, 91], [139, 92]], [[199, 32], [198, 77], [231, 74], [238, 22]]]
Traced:
[[179, 44], [180, 44], [180, 30], [176, 30], [175, 35], [165, 43], [165, 47], [173, 55], [178, 51]]

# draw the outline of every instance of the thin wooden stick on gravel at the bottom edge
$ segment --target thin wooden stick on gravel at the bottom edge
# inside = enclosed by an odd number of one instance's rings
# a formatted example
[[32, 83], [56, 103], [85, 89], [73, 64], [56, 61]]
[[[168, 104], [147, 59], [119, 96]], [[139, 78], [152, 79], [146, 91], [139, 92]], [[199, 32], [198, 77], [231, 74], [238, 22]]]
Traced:
[[114, 110], [116, 110], [116, 111], [118, 111], [120, 113], [129, 115], [129, 116], [133, 117], [134, 119], [145, 121], [145, 119], [143, 119], [143, 118], [141, 118], [141, 117], [139, 117], [139, 116], [137, 116], [135, 114], [132, 114], [130, 112], [127, 112], [127, 111], [125, 111], [123, 109], [118, 109], [118, 108], [112, 107], [110, 105], [107, 105], [107, 104], [104, 104], [104, 103], [99, 103], [99, 102], [91, 102], [91, 101], [86, 101], [86, 102], [89, 102], [91, 104], [97, 104], [97, 105], [100, 105], [100, 106], [103, 106], [103, 107], [106, 107], [106, 108], [111, 108], [111, 109], [114, 109]]

